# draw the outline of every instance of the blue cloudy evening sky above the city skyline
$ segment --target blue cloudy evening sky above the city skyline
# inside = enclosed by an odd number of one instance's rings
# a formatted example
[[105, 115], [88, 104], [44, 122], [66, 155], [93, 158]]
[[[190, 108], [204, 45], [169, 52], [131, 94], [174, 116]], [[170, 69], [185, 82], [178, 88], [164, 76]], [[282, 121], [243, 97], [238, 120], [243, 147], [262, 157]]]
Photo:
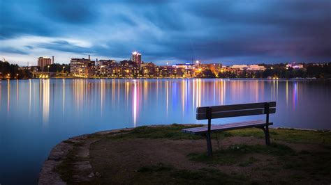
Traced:
[[0, 0], [0, 60], [331, 61], [330, 0]]

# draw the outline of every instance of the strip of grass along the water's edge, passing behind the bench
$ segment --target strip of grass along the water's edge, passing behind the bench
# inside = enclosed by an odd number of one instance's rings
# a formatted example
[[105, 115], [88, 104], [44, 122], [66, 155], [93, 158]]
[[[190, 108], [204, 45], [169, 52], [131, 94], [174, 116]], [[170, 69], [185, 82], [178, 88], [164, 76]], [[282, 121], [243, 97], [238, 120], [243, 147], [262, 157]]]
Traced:
[[[190, 127], [202, 127], [202, 124], [197, 124]], [[181, 124], [171, 124], [165, 127], [137, 127], [131, 131], [123, 131], [123, 134], [110, 134], [110, 138], [168, 138], [172, 140], [180, 139], [204, 139], [203, 136], [195, 136], [185, 134], [181, 130], [190, 128]], [[114, 135], [114, 136], [113, 136]], [[94, 136], [94, 135], [92, 135]], [[261, 129], [237, 129], [232, 131], [222, 131], [212, 134], [212, 138], [221, 140], [223, 138], [242, 136], [264, 138], [264, 133]], [[103, 136], [95, 136], [103, 137]], [[290, 143], [320, 143], [330, 147], [331, 132], [330, 131], [302, 131], [295, 129], [270, 129], [270, 137], [272, 140], [281, 140]]]

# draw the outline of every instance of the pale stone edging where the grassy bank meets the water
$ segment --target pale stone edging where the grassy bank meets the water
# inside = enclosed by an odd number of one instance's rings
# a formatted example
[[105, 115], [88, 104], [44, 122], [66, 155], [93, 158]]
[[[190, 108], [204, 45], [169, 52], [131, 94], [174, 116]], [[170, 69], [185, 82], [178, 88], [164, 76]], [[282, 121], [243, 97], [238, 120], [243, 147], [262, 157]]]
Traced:
[[[195, 126], [197, 124], [177, 124], [179, 126]], [[201, 124], [200, 124], [201, 125]], [[169, 127], [171, 124], [154, 124], [149, 125], [146, 127], [149, 128], [157, 128], [157, 127]], [[38, 176], [38, 184], [66, 184], [61, 179], [61, 175], [57, 172], [56, 168], [59, 166], [60, 163], [66, 160], [67, 155], [75, 145], [79, 145], [80, 147], [80, 155], [85, 158], [89, 158], [89, 146], [92, 143], [100, 140], [98, 136], [105, 136], [105, 135], [112, 135], [115, 136], [117, 134], [124, 134], [128, 131], [132, 131], [135, 128], [123, 128], [123, 129], [112, 129], [112, 130], [105, 130], [105, 131], [97, 131], [92, 134], [82, 134], [79, 136], [73, 136], [66, 140], [62, 140], [60, 143], [55, 145], [50, 154], [48, 155], [47, 159], [43, 162], [41, 170]], [[297, 130], [297, 131], [322, 131], [322, 132], [331, 132], [331, 130], [317, 130], [317, 129], [294, 129], [294, 128], [286, 128], [286, 127], [270, 127], [270, 130], [277, 130], [277, 129], [284, 129], [284, 130]], [[80, 143], [84, 142], [84, 145], [80, 145]], [[89, 161], [83, 161], [78, 166], [79, 168], [84, 168], [84, 170], [88, 170], [91, 172], [91, 176], [94, 177], [94, 173], [92, 172], [92, 167]], [[89, 175], [90, 177], [90, 175]], [[89, 177], [77, 177], [78, 179], [88, 180]], [[84, 179], [85, 178], [85, 179]]]

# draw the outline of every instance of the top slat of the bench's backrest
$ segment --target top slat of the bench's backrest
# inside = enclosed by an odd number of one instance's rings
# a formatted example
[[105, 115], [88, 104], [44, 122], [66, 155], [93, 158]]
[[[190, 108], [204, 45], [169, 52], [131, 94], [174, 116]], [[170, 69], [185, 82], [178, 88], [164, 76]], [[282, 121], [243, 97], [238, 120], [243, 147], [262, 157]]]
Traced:
[[[211, 106], [212, 112], [220, 111], [237, 111], [244, 109], [255, 109], [255, 108], [265, 108], [265, 104], [269, 103], [270, 108], [276, 107], [276, 102], [262, 102], [253, 104], [234, 104], [234, 105], [223, 105], [223, 106]], [[205, 113], [208, 106], [201, 106], [196, 108], [196, 113]]]

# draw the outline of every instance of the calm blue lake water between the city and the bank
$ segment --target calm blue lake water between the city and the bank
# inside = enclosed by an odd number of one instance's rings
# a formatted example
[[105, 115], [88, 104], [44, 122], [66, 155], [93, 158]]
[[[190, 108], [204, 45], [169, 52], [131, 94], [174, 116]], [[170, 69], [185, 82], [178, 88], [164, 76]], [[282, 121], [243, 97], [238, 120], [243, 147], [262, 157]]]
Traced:
[[[197, 106], [276, 101], [275, 127], [331, 129], [331, 81], [31, 79], [0, 81], [0, 184], [35, 184], [61, 140], [147, 124], [201, 123]], [[226, 123], [248, 118], [215, 120]], [[262, 117], [262, 119], [264, 116]]]

